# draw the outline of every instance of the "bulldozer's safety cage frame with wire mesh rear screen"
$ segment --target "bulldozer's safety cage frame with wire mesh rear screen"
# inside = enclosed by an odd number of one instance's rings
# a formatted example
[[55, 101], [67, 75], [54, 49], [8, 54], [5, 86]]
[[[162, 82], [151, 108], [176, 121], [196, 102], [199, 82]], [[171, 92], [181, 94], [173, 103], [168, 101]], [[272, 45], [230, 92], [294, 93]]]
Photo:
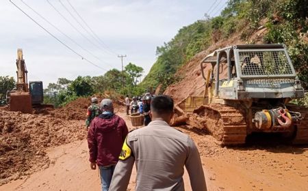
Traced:
[[205, 63], [211, 64], [214, 95], [224, 88], [219, 93], [222, 98], [238, 99], [233, 88], [243, 91], [247, 84], [281, 88], [296, 83], [296, 72], [283, 44], [244, 44], [215, 50], [201, 61], [201, 72], [207, 80]]

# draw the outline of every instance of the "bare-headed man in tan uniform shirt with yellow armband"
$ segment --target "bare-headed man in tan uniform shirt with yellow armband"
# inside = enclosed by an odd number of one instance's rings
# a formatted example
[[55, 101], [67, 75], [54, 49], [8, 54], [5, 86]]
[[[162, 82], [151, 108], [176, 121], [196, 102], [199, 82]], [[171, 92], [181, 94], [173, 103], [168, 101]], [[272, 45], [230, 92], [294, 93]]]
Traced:
[[127, 135], [116, 164], [110, 190], [125, 191], [136, 162], [136, 191], [183, 191], [184, 166], [194, 191], [206, 191], [207, 186], [198, 149], [187, 134], [169, 126], [173, 115], [173, 100], [158, 95], [151, 102], [152, 121], [149, 126]]

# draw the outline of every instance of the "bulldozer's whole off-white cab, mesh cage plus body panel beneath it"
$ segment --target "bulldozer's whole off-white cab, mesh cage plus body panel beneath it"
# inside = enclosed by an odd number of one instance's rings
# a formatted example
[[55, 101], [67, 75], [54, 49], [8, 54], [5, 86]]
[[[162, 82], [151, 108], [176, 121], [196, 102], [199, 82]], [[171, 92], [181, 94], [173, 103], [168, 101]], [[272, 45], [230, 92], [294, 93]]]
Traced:
[[209, 83], [218, 99], [304, 97], [283, 44], [244, 44], [215, 50], [201, 61], [205, 80], [207, 65], [211, 65]]

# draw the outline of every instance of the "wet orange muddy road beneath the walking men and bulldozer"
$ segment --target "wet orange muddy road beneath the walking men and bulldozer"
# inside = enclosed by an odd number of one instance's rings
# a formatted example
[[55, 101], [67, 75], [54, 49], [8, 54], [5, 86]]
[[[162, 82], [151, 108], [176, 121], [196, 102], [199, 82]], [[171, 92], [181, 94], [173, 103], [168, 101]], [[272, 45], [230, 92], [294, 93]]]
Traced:
[[[128, 117], [123, 112], [118, 114], [132, 128]], [[83, 121], [70, 123], [80, 126]], [[180, 127], [179, 130], [189, 134], [199, 149], [208, 190], [295, 191], [308, 188], [307, 146], [272, 144], [227, 148], [193, 128]], [[100, 190], [98, 171], [90, 170], [86, 139], [48, 147], [45, 152], [49, 165], [3, 184], [0, 190]], [[134, 190], [135, 178], [136, 171], [133, 171], [128, 190]], [[184, 181], [185, 190], [191, 190], [186, 173]]]

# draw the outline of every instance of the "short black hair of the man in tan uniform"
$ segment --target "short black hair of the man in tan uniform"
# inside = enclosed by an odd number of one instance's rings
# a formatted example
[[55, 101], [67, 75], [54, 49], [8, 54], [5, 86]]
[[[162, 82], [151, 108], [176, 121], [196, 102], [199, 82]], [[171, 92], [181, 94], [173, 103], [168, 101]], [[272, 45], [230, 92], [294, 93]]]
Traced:
[[158, 114], [173, 112], [173, 100], [168, 95], [157, 95], [151, 102], [151, 111]]

